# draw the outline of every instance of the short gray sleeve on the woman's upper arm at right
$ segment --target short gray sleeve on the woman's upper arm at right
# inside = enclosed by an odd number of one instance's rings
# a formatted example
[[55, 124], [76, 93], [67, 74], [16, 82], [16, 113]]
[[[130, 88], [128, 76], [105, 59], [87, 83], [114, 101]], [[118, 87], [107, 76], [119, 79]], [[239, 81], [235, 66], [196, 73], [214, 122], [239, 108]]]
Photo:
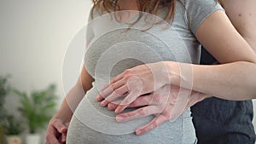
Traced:
[[224, 10], [215, 0], [185, 0], [184, 2], [189, 14], [189, 25], [194, 34], [210, 14], [217, 10]]

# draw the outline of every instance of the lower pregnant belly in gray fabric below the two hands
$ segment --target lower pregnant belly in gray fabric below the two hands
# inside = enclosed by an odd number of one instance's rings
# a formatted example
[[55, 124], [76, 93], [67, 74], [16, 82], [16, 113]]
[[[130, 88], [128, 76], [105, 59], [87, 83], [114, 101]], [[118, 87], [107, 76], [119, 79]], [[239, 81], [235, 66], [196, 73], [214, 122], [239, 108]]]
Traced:
[[[96, 101], [97, 89], [93, 86], [74, 112], [67, 133], [67, 144], [101, 143], [183, 143], [195, 142], [195, 130], [190, 117], [180, 117], [161, 124], [145, 135], [135, 135], [137, 127], [148, 124], [154, 117], [149, 116], [125, 123], [117, 123], [116, 114]], [[188, 113], [186, 114], [188, 115]], [[189, 139], [188, 139], [189, 138]]]

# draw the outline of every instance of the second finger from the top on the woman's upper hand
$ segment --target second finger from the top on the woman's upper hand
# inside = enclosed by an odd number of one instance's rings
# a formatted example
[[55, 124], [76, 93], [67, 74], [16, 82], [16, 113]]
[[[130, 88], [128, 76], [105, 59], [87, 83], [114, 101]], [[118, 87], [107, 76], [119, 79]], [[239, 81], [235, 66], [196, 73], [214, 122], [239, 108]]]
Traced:
[[102, 107], [106, 107], [109, 102], [114, 101], [118, 99], [119, 97], [122, 97], [125, 95], [125, 93], [128, 92], [128, 89], [125, 85], [120, 87], [119, 89], [115, 89], [112, 94], [108, 95], [108, 97], [102, 101], [101, 105]]

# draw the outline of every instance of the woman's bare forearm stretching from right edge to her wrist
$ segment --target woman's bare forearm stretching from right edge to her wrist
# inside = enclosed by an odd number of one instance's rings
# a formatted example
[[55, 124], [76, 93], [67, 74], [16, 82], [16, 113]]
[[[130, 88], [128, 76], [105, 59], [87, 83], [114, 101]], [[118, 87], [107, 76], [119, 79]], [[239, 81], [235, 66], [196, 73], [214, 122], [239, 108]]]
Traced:
[[[191, 65], [182, 64], [183, 67], [191, 67], [192, 75], [183, 75], [181, 64], [167, 61], [171, 82], [174, 85], [186, 89], [192, 89], [203, 94], [212, 95], [225, 100], [242, 101], [252, 99], [256, 95], [255, 72], [256, 64], [246, 61], [238, 61], [223, 65]], [[187, 68], [187, 70], [189, 70]], [[184, 68], [183, 68], [184, 69]], [[185, 69], [184, 69], [185, 70]], [[173, 76], [173, 73], [176, 76]], [[207, 74], [206, 74], [207, 73]], [[188, 79], [193, 78], [193, 81]], [[181, 83], [183, 81], [183, 83]], [[189, 86], [191, 86], [189, 88]]]

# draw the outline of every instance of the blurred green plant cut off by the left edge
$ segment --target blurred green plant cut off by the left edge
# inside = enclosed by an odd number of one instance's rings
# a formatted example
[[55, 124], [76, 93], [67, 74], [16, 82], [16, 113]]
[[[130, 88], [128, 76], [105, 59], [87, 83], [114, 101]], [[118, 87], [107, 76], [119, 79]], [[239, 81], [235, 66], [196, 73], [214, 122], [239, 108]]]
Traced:
[[4, 136], [3, 122], [6, 117], [6, 110], [3, 105], [5, 96], [9, 93], [8, 78], [9, 76], [0, 76], [0, 144], [3, 144]]

